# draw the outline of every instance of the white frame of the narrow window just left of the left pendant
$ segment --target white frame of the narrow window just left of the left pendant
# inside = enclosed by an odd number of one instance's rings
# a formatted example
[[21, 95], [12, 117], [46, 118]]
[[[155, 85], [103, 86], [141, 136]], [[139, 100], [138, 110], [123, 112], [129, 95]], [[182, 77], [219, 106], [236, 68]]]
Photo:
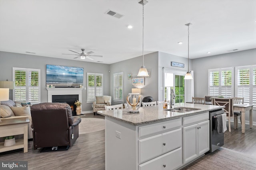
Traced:
[[[120, 76], [122, 76], [122, 80], [119, 80]], [[116, 80], [116, 82], [115, 82], [115, 80]], [[122, 82], [121, 86], [118, 83], [120, 81]], [[120, 88], [122, 88], [122, 94], [120, 94], [120, 90], [119, 90]], [[117, 96], [118, 96], [117, 99], [115, 98], [115, 90], [117, 90]], [[124, 102], [124, 72], [118, 72], [118, 73], [113, 74], [113, 101], [118, 102], [118, 103]]]

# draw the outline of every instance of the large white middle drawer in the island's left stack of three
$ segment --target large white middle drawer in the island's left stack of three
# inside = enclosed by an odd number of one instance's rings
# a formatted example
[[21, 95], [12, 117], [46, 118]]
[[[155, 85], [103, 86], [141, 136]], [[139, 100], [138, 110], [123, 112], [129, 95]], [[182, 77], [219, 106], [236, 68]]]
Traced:
[[139, 140], [139, 164], [182, 145], [182, 131], [176, 129]]

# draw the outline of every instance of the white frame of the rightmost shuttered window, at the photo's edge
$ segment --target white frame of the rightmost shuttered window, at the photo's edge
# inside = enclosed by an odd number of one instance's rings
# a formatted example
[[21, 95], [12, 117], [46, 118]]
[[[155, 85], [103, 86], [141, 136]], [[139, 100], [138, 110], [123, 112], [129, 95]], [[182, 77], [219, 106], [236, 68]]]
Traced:
[[[256, 104], [256, 82], [254, 82], [254, 78], [255, 78], [255, 74], [253, 74], [253, 69], [256, 69], [256, 65], [250, 65], [250, 66], [238, 66], [236, 67], [236, 82], [238, 82], [238, 70], [240, 69], [249, 69], [249, 101], [246, 99], [244, 100], [244, 104]], [[237, 97], [244, 97], [244, 96], [240, 96], [238, 94], [238, 83], [236, 83], [236, 92], [235, 92], [235, 96]], [[255, 106], [254, 106], [255, 107]]]

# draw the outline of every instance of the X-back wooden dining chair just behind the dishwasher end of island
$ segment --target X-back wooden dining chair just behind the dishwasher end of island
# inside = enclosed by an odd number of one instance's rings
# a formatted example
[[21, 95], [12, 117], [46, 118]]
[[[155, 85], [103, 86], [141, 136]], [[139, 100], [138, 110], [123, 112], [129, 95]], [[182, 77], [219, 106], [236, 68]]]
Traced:
[[233, 98], [214, 98], [212, 97], [212, 103], [216, 106], [225, 106], [224, 113], [227, 114], [228, 118], [228, 131], [231, 132], [230, 119], [234, 118], [234, 106]]

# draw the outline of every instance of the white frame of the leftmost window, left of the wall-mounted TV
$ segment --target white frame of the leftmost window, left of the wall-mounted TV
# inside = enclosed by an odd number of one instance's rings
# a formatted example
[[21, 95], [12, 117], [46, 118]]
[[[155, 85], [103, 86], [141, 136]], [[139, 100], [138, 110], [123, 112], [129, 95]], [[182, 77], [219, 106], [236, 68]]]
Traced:
[[[41, 102], [41, 70], [40, 69], [34, 69], [34, 68], [18, 68], [18, 67], [13, 67], [12, 68], [12, 80], [15, 82], [15, 71], [25, 71], [26, 72], [26, 102], [30, 102], [31, 104], [37, 104]], [[34, 87], [34, 86], [29, 86], [29, 72], [38, 72], [38, 101], [29, 101], [29, 89]], [[15, 86], [15, 84], [14, 84]], [[21, 86], [24, 87], [24, 86]], [[14, 87], [16, 88], [16, 86]], [[15, 101], [15, 89], [12, 94], [12, 98]]]

